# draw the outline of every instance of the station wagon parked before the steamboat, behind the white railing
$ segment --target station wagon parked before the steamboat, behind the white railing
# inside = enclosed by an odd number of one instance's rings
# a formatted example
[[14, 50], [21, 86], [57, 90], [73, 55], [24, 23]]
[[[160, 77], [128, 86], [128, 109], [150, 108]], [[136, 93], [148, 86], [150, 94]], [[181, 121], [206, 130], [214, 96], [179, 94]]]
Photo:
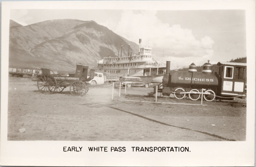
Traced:
[[142, 81], [140, 77], [122, 77], [119, 81], [121, 81], [121, 85], [123, 86], [125, 86], [125, 83], [126, 83], [127, 87], [131, 87], [131, 86], [143, 87], [144, 86], [145, 88], [148, 88], [148, 86], [150, 85], [148, 81]]

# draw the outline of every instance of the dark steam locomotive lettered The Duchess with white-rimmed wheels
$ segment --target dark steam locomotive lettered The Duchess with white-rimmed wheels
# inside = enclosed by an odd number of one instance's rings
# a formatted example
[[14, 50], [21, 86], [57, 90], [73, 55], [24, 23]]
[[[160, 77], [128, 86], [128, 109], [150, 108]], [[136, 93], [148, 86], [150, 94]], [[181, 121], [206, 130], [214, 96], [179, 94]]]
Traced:
[[246, 96], [246, 63], [218, 62], [219, 73], [212, 73], [212, 64], [205, 63], [202, 72], [192, 63], [189, 70], [170, 71], [170, 62], [166, 62], [166, 74], [163, 82], [158, 85], [158, 92], [177, 99], [189, 97], [198, 100], [203, 92], [203, 98], [210, 102], [217, 99], [228, 100], [235, 96]]

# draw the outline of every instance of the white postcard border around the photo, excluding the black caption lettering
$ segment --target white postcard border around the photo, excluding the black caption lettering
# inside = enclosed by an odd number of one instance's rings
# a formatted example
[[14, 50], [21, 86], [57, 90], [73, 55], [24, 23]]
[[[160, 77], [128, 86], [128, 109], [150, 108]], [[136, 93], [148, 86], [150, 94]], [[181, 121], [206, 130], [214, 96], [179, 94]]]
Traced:
[[[7, 141], [8, 48], [11, 9], [246, 10], [246, 141]], [[2, 3], [0, 161], [8, 166], [254, 166], [255, 1], [30, 1]], [[63, 152], [82, 146], [84, 152]], [[92, 146], [124, 146], [126, 152], [89, 152]], [[133, 152], [134, 146], [187, 146], [191, 152]]]

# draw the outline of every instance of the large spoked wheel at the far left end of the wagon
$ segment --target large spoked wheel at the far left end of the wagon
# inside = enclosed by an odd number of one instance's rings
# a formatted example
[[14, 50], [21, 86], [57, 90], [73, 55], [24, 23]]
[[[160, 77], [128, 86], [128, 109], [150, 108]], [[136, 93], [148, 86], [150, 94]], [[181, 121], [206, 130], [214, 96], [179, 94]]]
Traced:
[[56, 90], [57, 81], [52, 75], [41, 75], [37, 81], [40, 92], [53, 93]]

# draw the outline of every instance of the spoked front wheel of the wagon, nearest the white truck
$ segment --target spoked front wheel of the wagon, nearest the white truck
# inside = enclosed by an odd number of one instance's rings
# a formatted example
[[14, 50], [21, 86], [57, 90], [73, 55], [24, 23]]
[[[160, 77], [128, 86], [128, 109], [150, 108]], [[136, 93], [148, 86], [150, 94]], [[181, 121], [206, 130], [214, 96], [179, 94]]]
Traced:
[[75, 81], [70, 85], [70, 92], [76, 96], [84, 96], [88, 92], [87, 84], [82, 81]]

